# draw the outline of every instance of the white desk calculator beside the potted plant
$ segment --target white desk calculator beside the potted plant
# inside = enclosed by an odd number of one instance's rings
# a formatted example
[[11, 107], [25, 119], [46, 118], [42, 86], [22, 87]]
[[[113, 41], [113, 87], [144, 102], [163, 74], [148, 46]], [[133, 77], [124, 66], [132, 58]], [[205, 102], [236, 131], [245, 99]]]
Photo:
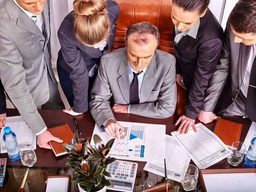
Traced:
[[107, 177], [111, 186], [107, 189], [132, 192], [134, 188], [138, 163], [116, 160], [108, 165], [107, 171], [112, 177]]

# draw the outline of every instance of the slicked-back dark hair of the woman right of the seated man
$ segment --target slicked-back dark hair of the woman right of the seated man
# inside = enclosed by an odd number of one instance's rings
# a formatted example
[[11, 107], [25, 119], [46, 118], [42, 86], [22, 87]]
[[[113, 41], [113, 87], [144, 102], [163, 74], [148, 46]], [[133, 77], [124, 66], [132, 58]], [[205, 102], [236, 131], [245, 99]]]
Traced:
[[209, 6], [210, 0], [172, 0], [172, 4], [187, 12], [198, 12], [201, 15]]

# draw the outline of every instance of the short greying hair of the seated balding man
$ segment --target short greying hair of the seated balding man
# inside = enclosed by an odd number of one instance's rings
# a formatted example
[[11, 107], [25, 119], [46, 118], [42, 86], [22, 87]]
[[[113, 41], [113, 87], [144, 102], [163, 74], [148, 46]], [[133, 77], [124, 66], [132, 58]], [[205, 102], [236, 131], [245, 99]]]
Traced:
[[140, 37], [138, 37], [136, 40], [134, 40], [135, 43], [142, 45], [142, 44], [148, 44], [148, 37], [146, 34], [154, 35], [157, 40], [157, 47], [160, 44], [160, 35], [158, 28], [154, 26], [153, 24], [143, 21], [140, 23], [135, 23], [128, 27], [125, 35], [125, 44], [127, 45], [128, 37], [133, 33], [139, 33]]

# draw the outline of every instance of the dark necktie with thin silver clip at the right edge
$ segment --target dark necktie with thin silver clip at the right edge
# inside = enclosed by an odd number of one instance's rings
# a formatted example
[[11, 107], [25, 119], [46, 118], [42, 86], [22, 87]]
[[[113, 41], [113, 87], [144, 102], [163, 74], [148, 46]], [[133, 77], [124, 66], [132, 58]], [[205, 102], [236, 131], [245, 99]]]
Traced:
[[[248, 86], [245, 113], [250, 118], [250, 120], [256, 121], [256, 58], [253, 61], [253, 67], [250, 73], [250, 81]], [[252, 87], [254, 86], [254, 87]]]

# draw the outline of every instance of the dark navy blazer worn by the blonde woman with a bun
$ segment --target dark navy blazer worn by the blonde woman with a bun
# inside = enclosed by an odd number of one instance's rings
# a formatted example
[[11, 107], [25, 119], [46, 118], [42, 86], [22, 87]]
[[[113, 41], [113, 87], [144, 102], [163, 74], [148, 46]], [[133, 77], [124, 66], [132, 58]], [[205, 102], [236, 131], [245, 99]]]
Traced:
[[[110, 37], [108, 39], [108, 49], [113, 44], [116, 34], [116, 19], [119, 17], [119, 6], [113, 0], [107, 1], [108, 18], [111, 22]], [[76, 40], [73, 31], [74, 11], [70, 12], [62, 21], [58, 29], [58, 39], [61, 49], [58, 52], [58, 63], [61, 68], [70, 73], [73, 80], [74, 106], [77, 113], [88, 111], [88, 84], [89, 71], [98, 63], [102, 52], [93, 47], [85, 46]], [[105, 51], [107, 51], [106, 49]]]

